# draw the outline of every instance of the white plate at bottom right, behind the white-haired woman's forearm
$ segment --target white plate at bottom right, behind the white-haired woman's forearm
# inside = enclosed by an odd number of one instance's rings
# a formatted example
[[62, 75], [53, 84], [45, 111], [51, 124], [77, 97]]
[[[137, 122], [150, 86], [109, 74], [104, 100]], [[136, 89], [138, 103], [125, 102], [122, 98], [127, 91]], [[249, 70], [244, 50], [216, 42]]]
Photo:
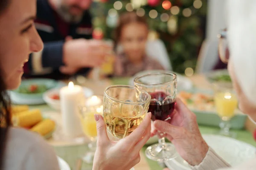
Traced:
[[[239, 165], [256, 157], [256, 148], [245, 142], [219, 135], [203, 135], [203, 138], [231, 166]], [[191, 170], [189, 164], [181, 157], [165, 163], [172, 170]]]

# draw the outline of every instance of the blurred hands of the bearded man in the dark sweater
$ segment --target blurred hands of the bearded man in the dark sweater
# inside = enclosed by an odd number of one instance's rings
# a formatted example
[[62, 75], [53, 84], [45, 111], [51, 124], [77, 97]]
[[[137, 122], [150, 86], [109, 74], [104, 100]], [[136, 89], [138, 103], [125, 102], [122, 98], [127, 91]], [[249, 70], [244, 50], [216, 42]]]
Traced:
[[74, 74], [80, 68], [98, 67], [109, 55], [112, 46], [100, 40], [85, 40], [66, 38], [63, 46], [63, 61], [65, 67], [60, 71], [64, 74]]

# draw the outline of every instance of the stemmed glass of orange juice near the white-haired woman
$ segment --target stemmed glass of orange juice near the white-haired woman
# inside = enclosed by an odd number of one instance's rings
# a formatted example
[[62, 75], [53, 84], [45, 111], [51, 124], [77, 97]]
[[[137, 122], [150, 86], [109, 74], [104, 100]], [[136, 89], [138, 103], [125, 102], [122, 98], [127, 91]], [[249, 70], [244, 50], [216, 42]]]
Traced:
[[235, 137], [236, 134], [230, 132], [230, 119], [235, 115], [238, 107], [238, 99], [232, 88], [225, 88], [215, 85], [214, 95], [215, 107], [218, 116], [221, 118], [221, 135]]

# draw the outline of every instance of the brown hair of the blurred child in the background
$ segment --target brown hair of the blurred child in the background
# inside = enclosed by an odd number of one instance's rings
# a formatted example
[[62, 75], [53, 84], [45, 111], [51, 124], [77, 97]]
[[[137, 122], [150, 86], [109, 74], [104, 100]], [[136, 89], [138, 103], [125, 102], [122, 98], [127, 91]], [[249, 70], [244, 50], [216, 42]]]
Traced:
[[124, 26], [130, 23], [142, 23], [148, 27], [148, 23], [145, 17], [140, 17], [136, 14], [136, 12], [125, 12], [120, 15], [118, 26], [116, 27], [114, 39], [117, 43], [121, 37], [121, 32]]

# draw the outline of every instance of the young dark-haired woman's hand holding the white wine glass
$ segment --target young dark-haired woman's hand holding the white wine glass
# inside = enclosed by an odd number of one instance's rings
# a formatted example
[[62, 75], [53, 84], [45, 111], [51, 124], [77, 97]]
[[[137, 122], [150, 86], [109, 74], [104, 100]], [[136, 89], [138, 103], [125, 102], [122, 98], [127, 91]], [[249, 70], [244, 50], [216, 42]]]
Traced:
[[93, 170], [130, 170], [140, 162], [140, 150], [150, 138], [151, 113], [129, 136], [118, 142], [108, 139], [105, 122], [100, 115], [97, 122], [97, 149], [93, 160]]

